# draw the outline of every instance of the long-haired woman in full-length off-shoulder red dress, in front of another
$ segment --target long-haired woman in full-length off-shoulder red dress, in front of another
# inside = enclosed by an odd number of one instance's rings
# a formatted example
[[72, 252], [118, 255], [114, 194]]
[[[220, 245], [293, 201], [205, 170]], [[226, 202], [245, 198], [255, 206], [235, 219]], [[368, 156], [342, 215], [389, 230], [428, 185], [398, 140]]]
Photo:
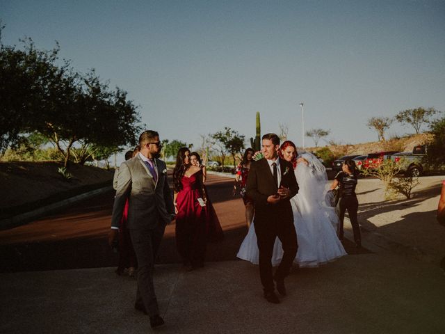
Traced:
[[190, 164], [190, 150], [181, 148], [173, 170], [176, 246], [187, 270], [204, 266], [206, 251], [205, 195], [202, 169]]

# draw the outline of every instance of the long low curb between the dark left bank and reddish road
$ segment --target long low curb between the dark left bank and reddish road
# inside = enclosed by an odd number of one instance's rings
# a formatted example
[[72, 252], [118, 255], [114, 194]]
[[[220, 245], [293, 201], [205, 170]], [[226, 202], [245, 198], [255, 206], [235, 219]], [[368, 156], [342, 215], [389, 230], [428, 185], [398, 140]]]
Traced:
[[81, 200], [85, 200], [86, 198], [90, 198], [101, 193], [106, 193], [106, 191], [110, 191], [111, 189], [113, 189], [113, 186], [106, 186], [104, 188], [88, 191], [88, 193], [81, 193], [80, 195], [74, 196], [72, 198], [67, 198], [66, 200], [40, 207], [40, 209], [35, 209], [30, 212], [25, 212], [24, 214], [18, 214], [17, 216], [3, 219], [2, 221], [0, 221], [0, 231], [25, 225], [26, 223], [30, 223], [31, 221], [35, 220], [35, 218], [39, 218], [44, 214], [49, 214], [63, 207], [68, 207], [69, 205], [72, 205], [75, 202], [79, 202]]

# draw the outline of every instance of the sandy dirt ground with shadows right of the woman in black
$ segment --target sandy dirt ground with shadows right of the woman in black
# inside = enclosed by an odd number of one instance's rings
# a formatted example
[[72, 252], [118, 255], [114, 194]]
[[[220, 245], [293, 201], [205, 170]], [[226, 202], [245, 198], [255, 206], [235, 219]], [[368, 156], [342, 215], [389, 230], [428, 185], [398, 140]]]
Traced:
[[362, 230], [394, 242], [393, 250], [410, 248], [419, 260], [439, 262], [445, 255], [445, 228], [436, 220], [442, 180], [445, 175], [419, 177], [410, 200], [387, 201], [380, 180], [360, 179], [357, 198]]

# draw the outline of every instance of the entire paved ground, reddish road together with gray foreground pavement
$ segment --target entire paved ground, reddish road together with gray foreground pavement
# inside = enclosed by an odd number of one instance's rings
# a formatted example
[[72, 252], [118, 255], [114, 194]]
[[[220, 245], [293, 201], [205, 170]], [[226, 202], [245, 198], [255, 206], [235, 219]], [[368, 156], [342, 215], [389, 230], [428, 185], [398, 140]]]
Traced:
[[[210, 177], [225, 230], [203, 269], [181, 270], [168, 226], [156, 266], [162, 333], [445, 333], [445, 278], [437, 264], [363, 250], [317, 269], [293, 268], [288, 296], [261, 296], [258, 267], [235, 259], [247, 228], [232, 180]], [[113, 193], [0, 232], [0, 333], [151, 333], [133, 309], [136, 281], [113, 273], [106, 246]], [[364, 240], [366, 244], [366, 240]], [[351, 253], [355, 248], [346, 244]], [[227, 260], [227, 261], [220, 261]], [[6, 267], [5, 267], [6, 266]], [[111, 267], [110, 267], [111, 266]], [[51, 270], [42, 269], [69, 269]], [[33, 271], [29, 271], [33, 270]]]

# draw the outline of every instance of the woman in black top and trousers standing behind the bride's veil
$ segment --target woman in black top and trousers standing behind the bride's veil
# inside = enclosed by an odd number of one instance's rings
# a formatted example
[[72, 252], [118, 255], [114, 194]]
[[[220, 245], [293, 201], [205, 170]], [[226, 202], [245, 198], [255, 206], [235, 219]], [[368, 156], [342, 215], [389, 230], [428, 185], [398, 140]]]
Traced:
[[358, 170], [355, 161], [346, 159], [341, 166], [342, 171], [337, 174], [331, 189], [334, 190], [339, 186], [339, 203], [337, 204], [337, 212], [339, 214], [339, 239], [343, 241], [343, 220], [346, 210], [351, 225], [353, 225], [354, 241], [357, 248], [362, 246], [362, 238], [360, 236], [359, 223], [357, 221], [357, 210], [359, 202], [355, 195], [355, 187], [357, 186]]

